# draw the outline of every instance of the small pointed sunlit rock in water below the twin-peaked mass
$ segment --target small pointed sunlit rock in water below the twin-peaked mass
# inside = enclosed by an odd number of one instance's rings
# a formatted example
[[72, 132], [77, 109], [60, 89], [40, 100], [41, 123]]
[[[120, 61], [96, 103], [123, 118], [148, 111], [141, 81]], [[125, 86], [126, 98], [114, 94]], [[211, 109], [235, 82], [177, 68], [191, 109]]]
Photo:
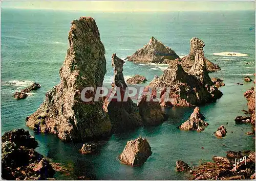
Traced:
[[204, 130], [204, 127], [209, 125], [204, 119], [205, 117], [200, 113], [200, 109], [196, 107], [189, 119], [181, 124], [180, 130], [196, 130], [201, 132]]

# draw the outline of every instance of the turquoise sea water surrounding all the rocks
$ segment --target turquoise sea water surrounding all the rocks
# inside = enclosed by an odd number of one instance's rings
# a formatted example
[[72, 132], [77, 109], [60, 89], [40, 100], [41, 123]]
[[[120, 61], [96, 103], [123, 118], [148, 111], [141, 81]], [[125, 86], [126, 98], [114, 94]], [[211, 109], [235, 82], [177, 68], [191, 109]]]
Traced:
[[[250, 30], [254, 27], [254, 11], [92, 13], [2, 9], [2, 134], [19, 127], [29, 130], [25, 118], [39, 107], [45, 93], [58, 84], [58, 70], [68, 48], [70, 22], [80, 16], [92, 16], [98, 25], [106, 50], [105, 86], [110, 86], [113, 81], [111, 55], [116, 53], [120, 58], [132, 55], [152, 36], [179, 56], [188, 54], [192, 37], [202, 39], [206, 58], [222, 68], [210, 76], [224, 79], [226, 86], [221, 88], [224, 95], [217, 102], [200, 107], [209, 123], [201, 133], [176, 128], [188, 119], [193, 108], [172, 108], [166, 109], [170, 117], [162, 125], [113, 135], [98, 153], [91, 156], [78, 152], [83, 143], [63, 143], [54, 135], [35, 135], [39, 142], [38, 152], [70, 168], [70, 175], [56, 174], [56, 178], [76, 179], [88, 175], [96, 179], [184, 179], [183, 173], [175, 172], [178, 159], [189, 165], [198, 165], [202, 161], [210, 161], [212, 156], [224, 156], [227, 150], [254, 149], [253, 136], [245, 134], [251, 131], [251, 126], [234, 123], [236, 116], [243, 115], [241, 110], [247, 110], [243, 93], [253, 86], [253, 83], [245, 83], [243, 78], [246, 75], [253, 77], [255, 71], [255, 30]], [[211, 55], [223, 51], [247, 56]], [[125, 62], [123, 73], [125, 77], [136, 73], [144, 75], [149, 83], [166, 67]], [[9, 85], [17, 81], [18, 85]], [[12, 98], [16, 90], [32, 82], [38, 82], [42, 87], [26, 99]], [[238, 86], [237, 82], [244, 85]], [[217, 139], [213, 132], [221, 124], [227, 128], [227, 136]], [[30, 133], [34, 135], [31, 130]], [[121, 164], [117, 157], [126, 142], [139, 135], [147, 138], [152, 156], [141, 167]]]

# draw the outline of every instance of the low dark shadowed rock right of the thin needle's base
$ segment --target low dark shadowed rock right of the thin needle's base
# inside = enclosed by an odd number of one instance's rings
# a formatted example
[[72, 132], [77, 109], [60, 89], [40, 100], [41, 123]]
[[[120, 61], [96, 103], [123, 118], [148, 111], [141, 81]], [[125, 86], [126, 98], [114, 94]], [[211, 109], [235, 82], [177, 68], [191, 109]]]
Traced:
[[[143, 92], [150, 92], [150, 87], [146, 86]], [[157, 92], [152, 91], [150, 98], [144, 94], [138, 102], [139, 113], [142, 117], [143, 124], [146, 126], [157, 126], [166, 120], [159, 101], [153, 100], [156, 96]]]

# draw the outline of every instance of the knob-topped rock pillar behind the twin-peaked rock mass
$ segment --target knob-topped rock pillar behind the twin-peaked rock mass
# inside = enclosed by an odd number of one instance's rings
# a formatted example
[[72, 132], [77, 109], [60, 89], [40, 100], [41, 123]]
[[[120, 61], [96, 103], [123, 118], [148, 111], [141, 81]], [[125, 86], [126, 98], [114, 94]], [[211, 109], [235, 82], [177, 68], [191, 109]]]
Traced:
[[195, 64], [196, 55], [200, 54], [200, 57], [205, 61], [206, 69], [208, 72], [215, 72], [217, 70], [220, 70], [221, 68], [219, 67], [219, 65], [216, 65], [210, 62], [208, 59], [204, 57], [204, 51], [203, 51], [204, 46], [205, 44], [202, 40], [194, 37], [190, 40], [189, 55], [183, 57], [182, 59], [176, 59], [175, 61], [165, 60], [164, 63], [172, 65], [175, 62], [180, 62], [182, 68], [185, 71], [189, 71], [190, 68], [193, 67], [193, 65]]

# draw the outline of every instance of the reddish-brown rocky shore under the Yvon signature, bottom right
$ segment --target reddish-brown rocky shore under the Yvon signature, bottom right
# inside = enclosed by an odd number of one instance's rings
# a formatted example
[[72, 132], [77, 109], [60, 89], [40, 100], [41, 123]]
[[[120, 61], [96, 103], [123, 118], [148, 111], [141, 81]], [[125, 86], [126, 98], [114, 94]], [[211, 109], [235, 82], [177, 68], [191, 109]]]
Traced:
[[[250, 155], [255, 153], [250, 152]], [[241, 154], [240, 159], [245, 155]], [[246, 154], [248, 156], [248, 154]], [[224, 157], [213, 157], [214, 163], [207, 162], [196, 167], [195, 170], [191, 171], [192, 176], [190, 179], [250, 179], [255, 173], [255, 160], [252, 158], [247, 158], [246, 165], [245, 162], [241, 162], [238, 165], [234, 165], [235, 159], [227, 159]]]

